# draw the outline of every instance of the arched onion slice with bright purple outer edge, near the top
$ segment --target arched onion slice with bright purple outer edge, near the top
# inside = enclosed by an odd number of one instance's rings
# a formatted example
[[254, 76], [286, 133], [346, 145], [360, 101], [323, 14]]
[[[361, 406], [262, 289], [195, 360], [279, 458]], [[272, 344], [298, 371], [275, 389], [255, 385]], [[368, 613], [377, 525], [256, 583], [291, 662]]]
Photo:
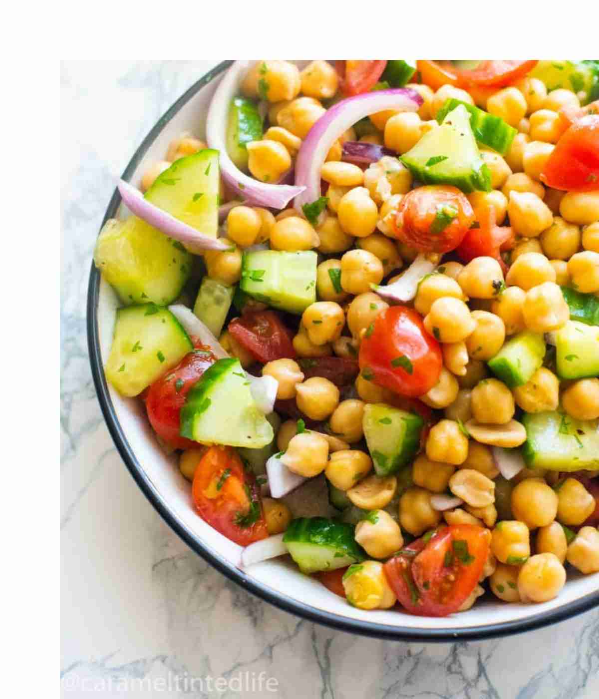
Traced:
[[304, 187], [296, 196], [295, 208], [302, 212], [305, 204], [320, 196], [320, 171], [326, 154], [349, 127], [371, 114], [385, 109], [415, 112], [422, 104], [421, 96], [409, 87], [382, 89], [342, 99], [326, 110], [326, 113], [308, 132], [296, 159], [296, 185]]

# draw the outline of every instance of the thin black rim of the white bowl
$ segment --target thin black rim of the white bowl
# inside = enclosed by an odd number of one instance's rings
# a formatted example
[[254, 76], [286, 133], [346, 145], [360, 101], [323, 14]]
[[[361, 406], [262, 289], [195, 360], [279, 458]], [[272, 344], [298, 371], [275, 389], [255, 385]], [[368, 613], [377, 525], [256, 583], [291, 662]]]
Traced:
[[[150, 145], [152, 145], [162, 129], [166, 127], [166, 124], [168, 124], [172, 117], [178, 113], [182, 106], [192, 99], [192, 97], [199, 92], [202, 87], [208, 85], [208, 83], [217, 77], [217, 75], [220, 75], [220, 73], [229, 68], [232, 63], [232, 61], [224, 61], [218, 64], [214, 69], [203, 75], [202, 78], [194, 83], [194, 85], [192, 85], [192, 87], [190, 87], [185, 94], [175, 101], [171, 108], [166, 110], [166, 113], [164, 113], [164, 115], [158, 120], [157, 124], [155, 124], [150, 133], [144, 138], [135, 154], [133, 154], [131, 161], [129, 161], [129, 164], [122, 174], [122, 178], [124, 180], [130, 180], [133, 172], [138, 166], [138, 163], [145, 155], [145, 152], [148, 150]], [[102, 225], [104, 222], [106, 222], [106, 219], [112, 218], [116, 215], [120, 201], [120, 195], [117, 189], [115, 189], [115, 192], [110, 199], [110, 203], [108, 204], [108, 209], [106, 210], [106, 215], [104, 216]], [[316, 607], [312, 607], [308, 604], [288, 598], [287, 596], [282, 595], [261, 582], [257, 582], [256, 580], [247, 577], [242, 570], [239, 570], [234, 565], [231, 565], [231, 563], [226, 561], [226, 559], [223, 559], [221, 556], [212, 552], [211, 549], [206, 547], [203, 542], [201, 542], [201, 540], [194, 535], [194, 533], [189, 531], [185, 525], [182, 524], [177, 517], [175, 517], [173, 512], [168, 509], [168, 504], [164, 502], [158, 491], [154, 488], [154, 485], [150, 479], [143, 471], [143, 468], [141, 468], [135, 454], [133, 454], [131, 446], [127, 441], [127, 437], [125, 436], [120, 422], [117, 419], [113, 402], [110, 399], [110, 394], [108, 393], [106, 377], [104, 376], [100, 354], [97, 317], [99, 287], [100, 274], [94, 267], [92, 261], [92, 270], [89, 275], [89, 287], [87, 291], [87, 345], [89, 350], [89, 361], [92, 366], [92, 375], [94, 377], [94, 384], [96, 387], [98, 400], [100, 402], [100, 407], [103, 412], [104, 419], [106, 420], [108, 431], [115, 442], [117, 450], [120, 453], [125, 465], [129, 469], [129, 472], [133, 476], [133, 479], [136, 481], [147, 499], [150, 500], [150, 503], [152, 503], [162, 519], [166, 521], [173, 531], [175, 531], [175, 533], [177, 533], [189, 547], [191, 547], [197, 554], [205, 559], [205, 561], [208, 561], [210, 565], [213, 565], [217, 570], [219, 570], [219, 572], [222, 572], [223, 575], [226, 575], [226, 577], [233, 580], [233, 582], [236, 582], [244, 589], [254, 593], [254, 595], [257, 595], [259, 598], [266, 600], [266, 602], [275, 605], [275, 607], [279, 607], [286, 612], [291, 612], [291, 614], [296, 614], [298, 617], [303, 617], [303, 619], [315, 621], [317, 624], [324, 624], [325, 626], [330, 626], [349, 633], [359, 633], [361, 635], [376, 638], [420, 642], [481, 640], [484, 638], [494, 638], [514, 633], [522, 633], [535, 628], [541, 628], [542, 626], [548, 626], [549, 624], [556, 624], [558, 621], [570, 619], [576, 614], [581, 614], [582, 612], [591, 610], [593, 607], [599, 605], [598, 592], [590, 593], [579, 600], [574, 600], [573, 602], [570, 602], [563, 607], [559, 607], [556, 610], [552, 610], [551, 612], [534, 614], [532, 617], [528, 617], [527, 619], [504, 621], [500, 624], [471, 626], [468, 628], [457, 629], [407, 628], [404, 626], [377, 624], [370, 621], [359, 621], [356, 619], [349, 619], [348, 617], [341, 617], [338, 614], [331, 614], [331, 612], [319, 610]]]

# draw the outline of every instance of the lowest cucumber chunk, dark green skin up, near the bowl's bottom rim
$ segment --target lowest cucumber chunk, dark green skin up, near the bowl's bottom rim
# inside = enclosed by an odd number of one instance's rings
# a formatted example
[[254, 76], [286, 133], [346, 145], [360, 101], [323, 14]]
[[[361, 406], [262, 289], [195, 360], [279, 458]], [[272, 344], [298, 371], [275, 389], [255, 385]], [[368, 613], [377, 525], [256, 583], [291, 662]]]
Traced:
[[302, 572], [335, 570], [366, 558], [354, 540], [354, 531], [351, 524], [324, 517], [300, 517], [291, 521], [283, 542]]

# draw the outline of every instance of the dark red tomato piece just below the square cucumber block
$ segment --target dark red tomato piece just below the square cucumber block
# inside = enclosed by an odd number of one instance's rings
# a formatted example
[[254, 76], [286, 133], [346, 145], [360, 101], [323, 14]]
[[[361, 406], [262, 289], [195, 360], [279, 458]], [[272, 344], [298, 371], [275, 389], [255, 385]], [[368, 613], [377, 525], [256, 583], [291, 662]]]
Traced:
[[229, 323], [229, 333], [263, 364], [296, 356], [289, 331], [272, 310], [250, 311], [240, 318], [233, 318]]

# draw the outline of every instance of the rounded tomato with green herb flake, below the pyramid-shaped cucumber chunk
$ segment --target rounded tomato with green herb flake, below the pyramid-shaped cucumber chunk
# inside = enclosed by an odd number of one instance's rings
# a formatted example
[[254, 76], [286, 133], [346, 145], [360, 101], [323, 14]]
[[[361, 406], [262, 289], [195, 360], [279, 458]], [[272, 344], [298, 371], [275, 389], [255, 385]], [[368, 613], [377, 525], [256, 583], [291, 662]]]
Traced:
[[449, 252], [462, 242], [474, 223], [474, 211], [457, 187], [428, 185], [401, 200], [394, 235], [419, 252]]

